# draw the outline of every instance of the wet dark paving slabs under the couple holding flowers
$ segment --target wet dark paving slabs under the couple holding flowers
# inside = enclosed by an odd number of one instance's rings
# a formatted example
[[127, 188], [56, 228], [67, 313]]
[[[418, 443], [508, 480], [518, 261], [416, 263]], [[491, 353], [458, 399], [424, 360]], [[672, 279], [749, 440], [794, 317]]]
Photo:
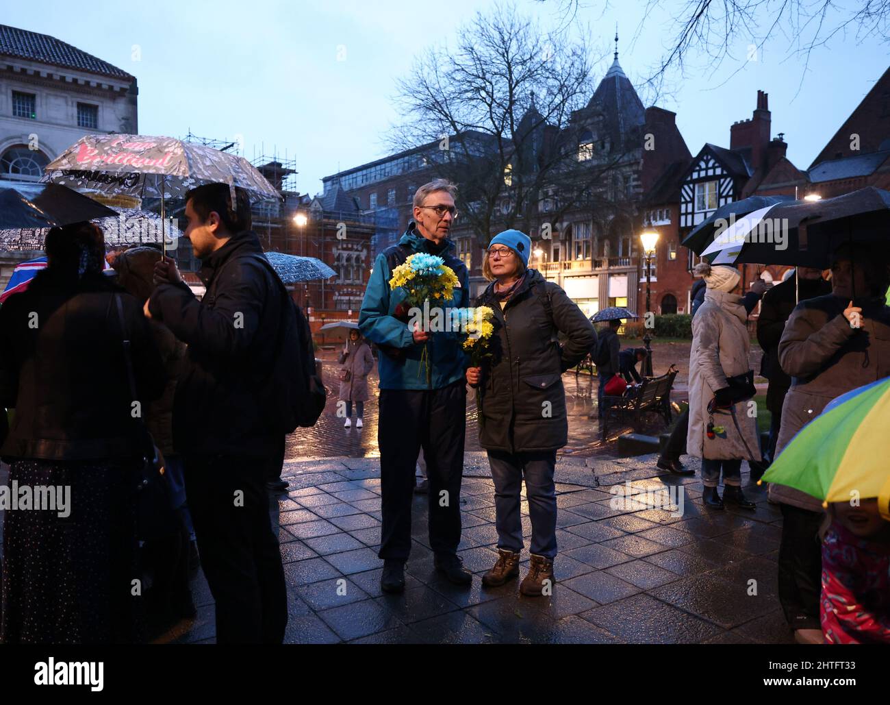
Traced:
[[[665, 475], [654, 460], [560, 459], [556, 583], [552, 596], [539, 598], [521, 596], [518, 580], [481, 587], [498, 542], [484, 453], [466, 453], [461, 495], [459, 554], [473, 584], [451, 585], [435, 570], [426, 535], [429, 499], [416, 495], [401, 596], [384, 595], [379, 586], [379, 459], [288, 461], [291, 490], [270, 504], [287, 581], [287, 642], [793, 643], [777, 597], [781, 527], [765, 490], [746, 484], [753, 512], [714, 512], [701, 504], [697, 478]], [[667, 501], [659, 506], [659, 491], [670, 488], [684, 493], [682, 514]], [[528, 544], [524, 501], [522, 522]], [[522, 575], [528, 560], [526, 547]], [[213, 600], [202, 575], [193, 587], [198, 619], [174, 641], [212, 643]]]

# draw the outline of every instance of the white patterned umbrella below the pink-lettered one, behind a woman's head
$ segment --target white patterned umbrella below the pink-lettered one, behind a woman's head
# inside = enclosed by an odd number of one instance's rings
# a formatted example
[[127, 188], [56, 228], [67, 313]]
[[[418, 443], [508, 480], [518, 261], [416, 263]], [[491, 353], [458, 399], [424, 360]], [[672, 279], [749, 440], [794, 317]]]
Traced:
[[[175, 249], [177, 239], [182, 238], [182, 231], [173, 219], [161, 228], [161, 216], [150, 211], [137, 208], [110, 207], [117, 211], [116, 216], [93, 219], [105, 236], [105, 244], [111, 246], [144, 245], [146, 243], [163, 243], [166, 234], [167, 249]], [[0, 249], [42, 250], [46, 233], [49, 228], [19, 228], [0, 231]]]

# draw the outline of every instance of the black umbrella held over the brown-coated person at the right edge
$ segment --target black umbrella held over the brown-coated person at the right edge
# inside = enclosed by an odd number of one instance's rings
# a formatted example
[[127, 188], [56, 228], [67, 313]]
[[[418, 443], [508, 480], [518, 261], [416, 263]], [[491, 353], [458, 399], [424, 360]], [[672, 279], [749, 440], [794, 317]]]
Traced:
[[752, 230], [736, 263], [827, 269], [845, 243], [890, 246], [890, 191], [874, 186], [834, 199], [780, 204], [769, 217], [775, 223], [772, 237]]

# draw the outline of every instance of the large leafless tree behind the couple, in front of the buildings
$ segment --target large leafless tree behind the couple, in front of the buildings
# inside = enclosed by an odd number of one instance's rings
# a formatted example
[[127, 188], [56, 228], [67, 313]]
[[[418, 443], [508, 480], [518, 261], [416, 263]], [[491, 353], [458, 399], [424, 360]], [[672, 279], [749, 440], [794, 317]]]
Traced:
[[572, 113], [593, 95], [593, 62], [569, 34], [500, 4], [459, 31], [457, 45], [427, 50], [398, 85], [403, 121], [391, 146], [434, 145], [426, 163], [460, 185], [461, 222], [483, 246], [503, 228], [531, 232], [615, 205], [612, 174], [627, 155], [578, 159]]

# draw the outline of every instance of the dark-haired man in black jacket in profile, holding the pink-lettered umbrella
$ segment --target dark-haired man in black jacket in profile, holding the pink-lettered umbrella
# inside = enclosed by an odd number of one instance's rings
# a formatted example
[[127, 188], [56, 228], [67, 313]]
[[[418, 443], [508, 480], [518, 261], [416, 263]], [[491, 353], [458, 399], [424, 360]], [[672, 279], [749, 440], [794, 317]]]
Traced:
[[283, 443], [267, 400], [285, 302], [247, 230], [246, 194], [239, 190], [236, 201], [237, 209], [221, 183], [186, 194], [185, 237], [201, 260], [206, 294], [198, 301], [165, 258], [145, 312], [189, 346], [174, 397], [174, 447], [185, 458], [201, 565], [216, 601], [216, 641], [281, 643], [287, 589], [266, 482]]

